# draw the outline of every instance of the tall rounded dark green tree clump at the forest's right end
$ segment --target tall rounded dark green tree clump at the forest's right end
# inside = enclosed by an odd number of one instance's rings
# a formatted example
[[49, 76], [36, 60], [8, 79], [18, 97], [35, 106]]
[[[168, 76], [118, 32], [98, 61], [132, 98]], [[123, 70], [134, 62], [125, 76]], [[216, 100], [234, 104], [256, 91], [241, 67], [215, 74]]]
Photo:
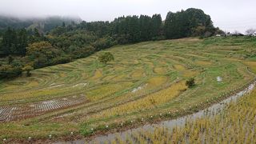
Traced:
[[214, 28], [210, 16], [198, 9], [169, 12], [164, 26], [166, 38], [209, 37], [218, 31], [218, 28]]

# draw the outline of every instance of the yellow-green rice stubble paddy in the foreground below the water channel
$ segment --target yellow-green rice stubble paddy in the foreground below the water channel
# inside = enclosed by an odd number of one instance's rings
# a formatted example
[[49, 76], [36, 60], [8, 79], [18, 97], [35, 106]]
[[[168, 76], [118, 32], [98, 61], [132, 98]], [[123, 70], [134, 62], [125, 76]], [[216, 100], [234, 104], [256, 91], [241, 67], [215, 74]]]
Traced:
[[185, 126], [174, 129], [162, 126], [138, 130], [125, 138], [116, 135], [111, 143], [255, 143], [255, 103], [256, 89], [219, 114], [187, 119]]

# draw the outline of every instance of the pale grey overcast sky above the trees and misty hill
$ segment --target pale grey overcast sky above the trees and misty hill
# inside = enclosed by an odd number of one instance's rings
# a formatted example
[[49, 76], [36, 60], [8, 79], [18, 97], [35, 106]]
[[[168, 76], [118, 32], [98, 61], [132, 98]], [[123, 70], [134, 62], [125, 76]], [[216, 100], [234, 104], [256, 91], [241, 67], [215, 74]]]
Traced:
[[256, 29], [256, 0], [0, 0], [0, 14], [19, 17], [78, 16], [87, 22], [122, 15], [161, 14], [194, 7], [210, 14], [214, 26], [244, 32]]

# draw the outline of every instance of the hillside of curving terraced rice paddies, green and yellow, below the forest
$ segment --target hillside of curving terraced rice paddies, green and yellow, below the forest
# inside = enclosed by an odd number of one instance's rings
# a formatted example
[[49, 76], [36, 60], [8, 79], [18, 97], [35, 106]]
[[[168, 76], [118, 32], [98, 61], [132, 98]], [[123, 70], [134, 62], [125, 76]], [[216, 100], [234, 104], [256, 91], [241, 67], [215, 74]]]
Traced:
[[[114, 46], [33, 70], [30, 78], [0, 83], [0, 138], [89, 137], [142, 125], [142, 118], [190, 114], [254, 79], [254, 49], [252, 40], [184, 38]], [[104, 51], [115, 58], [106, 66], [97, 60]], [[192, 89], [188, 78], [196, 80]]]

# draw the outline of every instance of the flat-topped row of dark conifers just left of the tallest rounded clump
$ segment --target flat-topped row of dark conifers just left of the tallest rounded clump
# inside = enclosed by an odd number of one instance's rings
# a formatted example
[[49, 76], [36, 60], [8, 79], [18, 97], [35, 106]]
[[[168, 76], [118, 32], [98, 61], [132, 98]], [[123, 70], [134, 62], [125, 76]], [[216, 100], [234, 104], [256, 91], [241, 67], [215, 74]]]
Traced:
[[120, 44], [162, 39], [160, 14], [116, 18], [111, 24], [110, 34]]

